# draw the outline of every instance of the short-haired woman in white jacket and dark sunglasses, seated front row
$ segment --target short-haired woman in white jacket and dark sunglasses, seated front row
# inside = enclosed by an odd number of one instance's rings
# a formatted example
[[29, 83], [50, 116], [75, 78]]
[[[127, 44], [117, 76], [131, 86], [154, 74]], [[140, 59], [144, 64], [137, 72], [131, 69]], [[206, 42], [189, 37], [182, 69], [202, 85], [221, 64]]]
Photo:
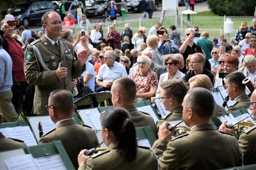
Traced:
[[164, 58], [164, 66], [167, 72], [161, 74], [160, 76], [158, 87], [156, 90], [156, 97], [159, 97], [159, 94], [161, 92], [161, 82], [167, 80], [182, 80], [182, 78], [185, 76], [185, 74], [180, 72], [178, 69], [179, 60], [175, 59], [172, 54]]

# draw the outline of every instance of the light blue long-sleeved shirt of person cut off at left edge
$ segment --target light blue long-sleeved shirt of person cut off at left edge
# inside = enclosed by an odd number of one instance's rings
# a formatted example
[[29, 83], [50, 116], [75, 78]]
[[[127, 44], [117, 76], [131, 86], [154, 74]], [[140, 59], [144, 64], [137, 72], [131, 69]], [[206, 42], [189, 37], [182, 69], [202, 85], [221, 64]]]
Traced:
[[0, 46], [0, 92], [11, 90], [12, 85], [12, 58]]

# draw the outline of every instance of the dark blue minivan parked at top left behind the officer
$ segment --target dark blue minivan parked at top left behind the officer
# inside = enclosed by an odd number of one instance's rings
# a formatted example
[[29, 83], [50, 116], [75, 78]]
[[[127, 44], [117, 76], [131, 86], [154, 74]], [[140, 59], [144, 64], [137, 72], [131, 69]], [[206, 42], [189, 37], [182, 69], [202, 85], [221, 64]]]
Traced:
[[[19, 20], [19, 25], [28, 27], [33, 24], [40, 24], [41, 18], [45, 12], [55, 10], [54, 4], [49, 1], [37, 3], [20, 3], [11, 9], [12, 15]], [[7, 10], [6, 10], [7, 11]], [[2, 12], [2, 15], [4, 11]]]

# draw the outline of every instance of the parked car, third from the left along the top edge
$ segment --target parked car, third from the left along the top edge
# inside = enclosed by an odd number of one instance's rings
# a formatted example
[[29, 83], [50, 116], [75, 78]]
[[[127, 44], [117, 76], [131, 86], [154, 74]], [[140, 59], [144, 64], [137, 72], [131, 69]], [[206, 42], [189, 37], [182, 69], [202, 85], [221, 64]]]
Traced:
[[[88, 6], [86, 10], [86, 15], [87, 17], [94, 17], [94, 16], [100, 16], [100, 15], [105, 15], [108, 17], [109, 11], [108, 11], [108, 4], [110, 0], [104, 1], [104, 0], [97, 0], [92, 3], [92, 6]], [[121, 0], [115, 0], [116, 2], [116, 7], [118, 10], [116, 11], [116, 14], [121, 15]]]

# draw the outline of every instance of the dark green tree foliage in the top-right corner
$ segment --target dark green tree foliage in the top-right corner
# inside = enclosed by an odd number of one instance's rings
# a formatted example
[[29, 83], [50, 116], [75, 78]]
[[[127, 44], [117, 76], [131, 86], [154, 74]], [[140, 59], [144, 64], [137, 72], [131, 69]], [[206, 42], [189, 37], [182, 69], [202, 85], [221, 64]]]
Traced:
[[253, 16], [255, 0], [208, 0], [209, 9], [216, 15]]

